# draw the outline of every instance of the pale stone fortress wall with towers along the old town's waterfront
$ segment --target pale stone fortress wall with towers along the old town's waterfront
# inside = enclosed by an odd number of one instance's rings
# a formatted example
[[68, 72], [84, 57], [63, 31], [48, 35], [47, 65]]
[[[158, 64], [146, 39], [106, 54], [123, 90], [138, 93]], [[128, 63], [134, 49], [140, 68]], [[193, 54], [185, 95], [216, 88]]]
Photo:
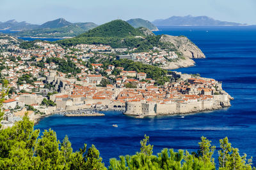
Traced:
[[212, 99], [188, 102], [154, 103], [134, 101], [125, 103], [125, 115], [132, 116], [157, 116], [177, 115], [207, 110], [216, 110], [230, 106], [228, 94], [214, 95]]

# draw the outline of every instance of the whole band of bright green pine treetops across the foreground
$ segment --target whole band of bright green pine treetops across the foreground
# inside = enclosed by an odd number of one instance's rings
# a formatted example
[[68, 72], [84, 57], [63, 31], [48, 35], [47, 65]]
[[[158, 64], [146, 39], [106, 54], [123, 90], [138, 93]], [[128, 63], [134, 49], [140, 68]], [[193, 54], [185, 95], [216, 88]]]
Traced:
[[[5, 81], [4, 87], [7, 86]], [[0, 106], [8, 92], [2, 92]], [[0, 112], [0, 120], [3, 112]], [[39, 137], [40, 131], [33, 129], [33, 122], [25, 116], [13, 127], [1, 129], [0, 124], [0, 169], [107, 169], [102, 163], [99, 150], [92, 145], [73, 152], [66, 136], [62, 143], [56, 132], [49, 129]], [[148, 144], [148, 136], [140, 142], [140, 152], [135, 155], [120, 156], [120, 160], [110, 159], [108, 169], [216, 169], [212, 158], [216, 146], [201, 138], [197, 152], [183, 150], [174, 152], [164, 148], [161, 153], [152, 155], [153, 146]], [[252, 159], [246, 160], [237, 148], [233, 148], [228, 138], [220, 140], [218, 151], [219, 169], [252, 169]], [[255, 168], [253, 168], [255, 169]]]

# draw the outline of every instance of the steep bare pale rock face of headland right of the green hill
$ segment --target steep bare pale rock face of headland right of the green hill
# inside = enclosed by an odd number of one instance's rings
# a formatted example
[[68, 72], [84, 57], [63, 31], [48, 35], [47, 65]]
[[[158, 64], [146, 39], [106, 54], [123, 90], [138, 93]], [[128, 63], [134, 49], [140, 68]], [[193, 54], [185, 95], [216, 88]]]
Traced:
[[163, 43], [172, 43], [177, 50], [179, 50], [184, 57], [190, 59], [202, 59], [205, 58], [204, 53], [188, 38], [184, 36], [169, 36], [163, 35], [160, 38]]

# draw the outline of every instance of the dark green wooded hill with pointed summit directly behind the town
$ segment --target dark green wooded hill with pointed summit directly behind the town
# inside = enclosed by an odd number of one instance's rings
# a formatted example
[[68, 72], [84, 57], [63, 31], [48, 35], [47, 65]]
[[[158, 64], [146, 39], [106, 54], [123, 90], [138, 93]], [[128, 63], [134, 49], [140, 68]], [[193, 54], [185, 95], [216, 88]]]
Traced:
[[[63, 46], [78, 44], [103, 44], [110, 45], [112, 48], [137, 48], [138, 52], [152, 49], [154, 46], [159, 48], [173, 48], [170, 43], [161, 43], [161, 36], [144, 33], [143, 29], [134, 29], [123, 20], [113, 20], [100, 25], [80, 36], [56, 41]], [[175, 50], [175, 49], [173, 49]]]

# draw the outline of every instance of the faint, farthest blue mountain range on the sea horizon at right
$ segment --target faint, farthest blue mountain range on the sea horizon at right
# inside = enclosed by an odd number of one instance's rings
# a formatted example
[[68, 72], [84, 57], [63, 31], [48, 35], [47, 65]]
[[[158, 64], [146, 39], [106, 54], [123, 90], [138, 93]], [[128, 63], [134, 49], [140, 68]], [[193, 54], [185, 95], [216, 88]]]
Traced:
[[185, 17], [173, 16], [166, 19], [154, 20], [152, 22], [154, 25], [158, 26], [238, 26], [247, 25], [239, 24], [236, 22], [226, 22], [220, 20], [214, 20], [213, 18], [207, 16], [193, 17], [191, 15]]

